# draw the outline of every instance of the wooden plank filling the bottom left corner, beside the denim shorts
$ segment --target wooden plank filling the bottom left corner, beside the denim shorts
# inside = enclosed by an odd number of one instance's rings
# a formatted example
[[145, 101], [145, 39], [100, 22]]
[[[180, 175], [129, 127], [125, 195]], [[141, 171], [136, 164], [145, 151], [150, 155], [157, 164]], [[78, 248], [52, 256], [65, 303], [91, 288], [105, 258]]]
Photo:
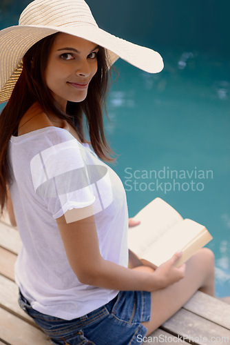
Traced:
[[0, 338], [10, 345], [50, 345], [45, 333], [1, 308], [0, 324]]

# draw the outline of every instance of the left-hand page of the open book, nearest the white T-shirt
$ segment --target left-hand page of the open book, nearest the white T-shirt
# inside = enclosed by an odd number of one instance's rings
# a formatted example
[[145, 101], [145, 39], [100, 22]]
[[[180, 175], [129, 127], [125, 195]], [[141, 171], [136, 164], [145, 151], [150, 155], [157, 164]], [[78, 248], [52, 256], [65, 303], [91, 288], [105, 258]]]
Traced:
[[128, 247], [139, 257], [172, 226], [182, 221], [181, 215], [159, 197], [140, 210], [134, 219], [140, 220], [140, 224], [129, 228]]

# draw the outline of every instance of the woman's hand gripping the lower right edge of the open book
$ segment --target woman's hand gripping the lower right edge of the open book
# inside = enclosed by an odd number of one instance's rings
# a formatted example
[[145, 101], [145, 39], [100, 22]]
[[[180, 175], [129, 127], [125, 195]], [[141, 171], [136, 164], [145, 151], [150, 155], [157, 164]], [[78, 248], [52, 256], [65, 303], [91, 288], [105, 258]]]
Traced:
[[161, 288], [166, 288], [185, 277], [185, 264], [178, 268], [175, 266], [181, 255], [182, 252], [174, 254], [171, 259], [156, 268], [154, 274], [157, 275]]

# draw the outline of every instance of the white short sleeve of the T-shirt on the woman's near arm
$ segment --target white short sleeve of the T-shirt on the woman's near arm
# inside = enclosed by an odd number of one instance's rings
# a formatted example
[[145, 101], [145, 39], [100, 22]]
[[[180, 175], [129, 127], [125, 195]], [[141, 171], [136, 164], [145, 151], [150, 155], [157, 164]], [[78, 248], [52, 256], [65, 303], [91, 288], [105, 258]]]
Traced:
[[41, 150], [32, 158], [30, 170], [34, 191], [54, 219], [95, 201], [83, 146], [76, 139]]

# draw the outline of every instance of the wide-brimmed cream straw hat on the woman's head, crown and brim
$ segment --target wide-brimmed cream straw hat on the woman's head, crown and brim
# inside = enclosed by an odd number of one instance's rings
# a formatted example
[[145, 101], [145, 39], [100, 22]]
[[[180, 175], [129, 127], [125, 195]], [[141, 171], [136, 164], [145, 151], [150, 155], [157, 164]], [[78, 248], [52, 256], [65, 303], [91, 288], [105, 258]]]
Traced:
[[84, 0], [35, 0], [21, 13], [18, 26], [0, 31], [0, 103], [10, 98], [21, 74], [25, 52], [55, 32], [73, 34], [104, 47], [108, 66], [121, 57], [146, 72], [156, 73], [163, 69], [158, 52], [98, 28]]

